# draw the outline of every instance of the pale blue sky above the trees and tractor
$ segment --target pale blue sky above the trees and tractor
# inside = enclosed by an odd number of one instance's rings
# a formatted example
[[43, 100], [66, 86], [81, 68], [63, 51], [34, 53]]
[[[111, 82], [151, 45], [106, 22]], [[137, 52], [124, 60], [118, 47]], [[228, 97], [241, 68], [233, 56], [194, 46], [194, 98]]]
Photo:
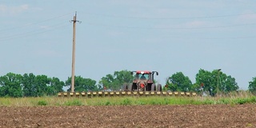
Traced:
[[99, 81], [120, 70], [155, 79], [222, 69], [247, 90], [256, 77], [254, 0], [0, 0], [0, 76], [71, 76]]

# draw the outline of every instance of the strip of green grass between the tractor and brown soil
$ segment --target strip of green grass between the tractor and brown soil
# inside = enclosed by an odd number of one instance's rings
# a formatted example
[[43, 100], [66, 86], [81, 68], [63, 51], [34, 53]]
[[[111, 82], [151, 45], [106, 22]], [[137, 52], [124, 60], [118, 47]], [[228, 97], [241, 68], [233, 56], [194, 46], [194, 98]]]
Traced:
[[98, 97], [98, 98], [0, 98], [0, 106], [138, 106], [138, 105], [214, 105], [256, 103], [248, 97]]

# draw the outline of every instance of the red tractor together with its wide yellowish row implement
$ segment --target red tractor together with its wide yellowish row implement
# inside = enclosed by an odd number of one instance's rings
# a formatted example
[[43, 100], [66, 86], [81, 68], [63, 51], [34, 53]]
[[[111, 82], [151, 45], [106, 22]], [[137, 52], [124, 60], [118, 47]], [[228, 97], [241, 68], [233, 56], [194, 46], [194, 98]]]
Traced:
[[121, 90], [110, 91], [87, 91], [87, 92], [61, 92], [58, 97], [106, 97], [106, 96], [196, 96], [194, 92], [171, 92], [163, 91], [161, 84], [155, 84], [154, 74], [158, 75], [157, 71], [138, 70], [131, 71], [134, 76], [133, 82], [124, 84]]

